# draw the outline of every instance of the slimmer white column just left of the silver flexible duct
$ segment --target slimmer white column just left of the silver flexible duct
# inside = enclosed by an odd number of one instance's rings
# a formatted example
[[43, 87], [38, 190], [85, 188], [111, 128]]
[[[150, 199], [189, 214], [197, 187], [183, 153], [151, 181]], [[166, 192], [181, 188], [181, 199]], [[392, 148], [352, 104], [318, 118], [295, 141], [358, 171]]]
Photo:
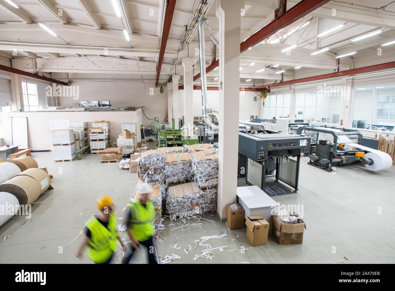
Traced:
[[194, 138], [194, 72], [195, 59], [182, 58], [184, 67], [184, 137]]

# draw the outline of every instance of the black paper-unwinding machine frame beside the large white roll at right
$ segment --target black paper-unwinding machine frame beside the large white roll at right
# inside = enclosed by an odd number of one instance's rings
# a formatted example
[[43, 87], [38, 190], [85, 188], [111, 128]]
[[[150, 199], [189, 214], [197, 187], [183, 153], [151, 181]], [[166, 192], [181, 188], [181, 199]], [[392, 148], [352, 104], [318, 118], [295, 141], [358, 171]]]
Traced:
[[[378, 141], [365, 139], [355, 129], [340, 127], [299, 127], [298, 134], [304, 133], [311, 137], [311, 149], [308, 157], [309, 165], [313, 165], [325, 171], [332, 172], [333, 166], [344, 164], [372, 165], [373, 160], [366, 158], [365, 154], [377, 149]], [[361, 148], [348, 147], [347, 143], [353, 143]]]

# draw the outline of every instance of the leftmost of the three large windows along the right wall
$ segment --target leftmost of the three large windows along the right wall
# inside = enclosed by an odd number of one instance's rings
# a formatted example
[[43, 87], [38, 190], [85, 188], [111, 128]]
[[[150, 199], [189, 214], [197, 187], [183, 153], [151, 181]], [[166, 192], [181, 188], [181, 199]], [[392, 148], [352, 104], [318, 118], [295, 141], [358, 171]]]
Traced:
[[263, 107], [263, 118], [288, 117], [290, 114], [290, 94], [268, 95]]

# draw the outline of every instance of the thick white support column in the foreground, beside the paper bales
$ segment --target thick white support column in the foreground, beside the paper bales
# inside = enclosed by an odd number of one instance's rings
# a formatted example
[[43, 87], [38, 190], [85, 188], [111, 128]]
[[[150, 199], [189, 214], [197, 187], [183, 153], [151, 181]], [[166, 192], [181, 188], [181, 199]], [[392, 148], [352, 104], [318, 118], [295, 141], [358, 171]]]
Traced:
[[[244, 1], [218, 0], [219, 19], [219, 132], [217, 213], [226, 219], [226, 205], [236, 201], [240, 99], [240, 22]], [[221, 84], [221, 83], [220, 83]]]

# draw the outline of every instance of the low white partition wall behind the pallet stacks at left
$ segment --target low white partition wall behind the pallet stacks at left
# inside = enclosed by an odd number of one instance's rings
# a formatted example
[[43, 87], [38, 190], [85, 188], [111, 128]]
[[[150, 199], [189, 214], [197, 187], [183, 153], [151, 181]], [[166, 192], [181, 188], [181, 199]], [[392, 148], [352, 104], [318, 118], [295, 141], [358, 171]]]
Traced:
[[[70, 122], [92, 122], [105, 120], [110, 122], [111, 143], [117, 141], [121, 133], [121, 123], [137, 123], [140, 127], [137, 111], [119, 112], [4, 112], [0, 113], [3, 131], [3, 145], [12, 145], [11, 117], [27, 117], [28, 146], [32, 150], [51, 150], [51, 133], [49, 120], [70, 119]], [[140, 141], [140, 131], [137, 130], [137, 141]]]

